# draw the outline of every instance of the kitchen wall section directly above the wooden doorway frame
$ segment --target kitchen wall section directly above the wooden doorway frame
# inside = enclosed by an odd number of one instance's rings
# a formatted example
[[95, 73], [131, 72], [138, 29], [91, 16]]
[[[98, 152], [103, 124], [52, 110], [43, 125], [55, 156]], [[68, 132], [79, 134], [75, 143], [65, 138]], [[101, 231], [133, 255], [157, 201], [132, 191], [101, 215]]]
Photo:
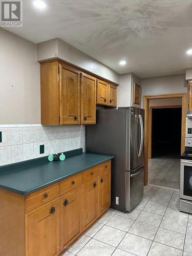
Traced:
[[156, 94], [186, 93], [185, 74], [159, 76], [141, 79], [142, 106], [143, 96]]

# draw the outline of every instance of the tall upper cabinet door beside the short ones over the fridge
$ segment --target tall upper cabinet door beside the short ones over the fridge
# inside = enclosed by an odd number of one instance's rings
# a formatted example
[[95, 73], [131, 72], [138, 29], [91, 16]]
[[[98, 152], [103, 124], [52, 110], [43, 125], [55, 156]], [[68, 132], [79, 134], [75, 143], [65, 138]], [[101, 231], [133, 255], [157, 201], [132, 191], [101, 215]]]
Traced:
[[81, 123], [96, 123], [96, 78], [81, 75]]

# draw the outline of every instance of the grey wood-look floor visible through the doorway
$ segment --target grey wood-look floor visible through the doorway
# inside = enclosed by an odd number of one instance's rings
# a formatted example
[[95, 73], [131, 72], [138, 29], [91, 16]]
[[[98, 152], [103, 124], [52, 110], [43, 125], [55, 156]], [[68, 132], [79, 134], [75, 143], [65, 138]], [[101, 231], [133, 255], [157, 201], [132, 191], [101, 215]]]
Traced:
[[149, 158], [148, 184], [180, 189], [180, 158]]

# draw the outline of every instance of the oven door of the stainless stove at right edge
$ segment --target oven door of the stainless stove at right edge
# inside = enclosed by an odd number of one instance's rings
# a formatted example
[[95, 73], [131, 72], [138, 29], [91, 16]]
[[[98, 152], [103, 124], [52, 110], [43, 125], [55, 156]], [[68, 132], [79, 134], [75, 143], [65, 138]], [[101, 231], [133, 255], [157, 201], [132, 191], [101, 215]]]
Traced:
[[[192, 177], [192, 160], [181, 160], [180, 198], [192, 201], [192, 187], [189, 179]], [[192, 179], [192, 178], [191, 178]]]

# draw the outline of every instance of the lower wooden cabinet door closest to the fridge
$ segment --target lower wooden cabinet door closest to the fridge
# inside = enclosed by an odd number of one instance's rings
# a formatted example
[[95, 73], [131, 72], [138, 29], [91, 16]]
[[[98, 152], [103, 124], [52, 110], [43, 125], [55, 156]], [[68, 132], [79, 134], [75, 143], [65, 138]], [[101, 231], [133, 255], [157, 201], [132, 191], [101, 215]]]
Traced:
[[99, 176], [99, 216], [111, 205], [111, 170]]

